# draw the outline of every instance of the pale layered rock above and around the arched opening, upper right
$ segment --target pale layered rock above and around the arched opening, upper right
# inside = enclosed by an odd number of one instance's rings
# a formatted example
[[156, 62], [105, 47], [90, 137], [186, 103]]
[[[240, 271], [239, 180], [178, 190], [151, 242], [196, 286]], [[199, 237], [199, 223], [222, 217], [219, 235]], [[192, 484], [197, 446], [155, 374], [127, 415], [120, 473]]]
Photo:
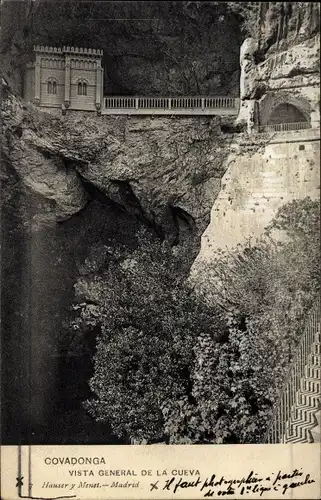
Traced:
[[[319, 121], [319, 6], [312, 2], [264, 2], [240, 50], [238, 122], [249, 130], [266, 124], [278, 103], [293, 104], [302, 119]], [[293, 122], [300, 121], [293, 116]]]

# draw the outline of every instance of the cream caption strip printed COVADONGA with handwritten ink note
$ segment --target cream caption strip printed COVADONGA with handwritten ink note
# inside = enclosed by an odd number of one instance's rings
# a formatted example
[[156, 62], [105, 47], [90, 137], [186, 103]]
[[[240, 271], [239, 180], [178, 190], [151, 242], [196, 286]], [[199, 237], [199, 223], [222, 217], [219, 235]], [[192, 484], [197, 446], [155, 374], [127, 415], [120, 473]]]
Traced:
[[1, 468], [6, 500], [320, 498], [318, 444], [9, 446], [1, 458], [11, 464]]

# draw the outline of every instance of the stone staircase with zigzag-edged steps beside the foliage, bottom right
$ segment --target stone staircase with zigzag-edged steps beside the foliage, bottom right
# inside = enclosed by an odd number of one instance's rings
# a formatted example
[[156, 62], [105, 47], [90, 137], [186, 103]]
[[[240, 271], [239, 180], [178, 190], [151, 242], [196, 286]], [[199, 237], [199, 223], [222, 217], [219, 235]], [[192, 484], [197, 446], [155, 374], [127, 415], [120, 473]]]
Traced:
[[321, 343], [320, 300], [307, 322], [280, 392], [267, 443], [320, 443]]

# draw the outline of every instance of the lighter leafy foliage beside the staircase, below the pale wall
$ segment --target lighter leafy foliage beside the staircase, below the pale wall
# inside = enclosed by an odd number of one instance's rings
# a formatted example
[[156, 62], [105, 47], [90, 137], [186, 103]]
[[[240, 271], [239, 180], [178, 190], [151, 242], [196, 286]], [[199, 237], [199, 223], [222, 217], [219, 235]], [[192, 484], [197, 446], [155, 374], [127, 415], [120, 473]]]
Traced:
[[[212, 419], [212, 429], [224, 434], [224, 442], [260, 442], [264, 437], [319, 293], [319, 224], [319, 201], [295, 200], [280, 208], [255, 246], [223, 254], [213, 263], [212, 289], [206, 269], [205, 293], [227, 311], [230, 326], [217, 362], [215, 346], [206, 340], [193, 395], [203, 408], [203, 422]], [[276, 230], [286, 237], [277, 240]], [[214, 389], [212, 399], [208, 387]]]

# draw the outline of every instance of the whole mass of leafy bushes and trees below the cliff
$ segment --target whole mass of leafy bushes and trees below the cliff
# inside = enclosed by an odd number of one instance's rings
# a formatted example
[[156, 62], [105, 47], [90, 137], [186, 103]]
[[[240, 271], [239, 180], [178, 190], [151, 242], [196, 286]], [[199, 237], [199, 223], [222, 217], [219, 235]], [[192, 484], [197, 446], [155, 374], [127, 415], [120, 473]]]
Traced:
[[198, 294], [146, 235], [107, 254], [76, 285], [74, 331], [99, 331], [90, 414], [128, 442], [262, 441], [319, 289], [319, 203], [282, 207], [255, 246], [207, 265]]

